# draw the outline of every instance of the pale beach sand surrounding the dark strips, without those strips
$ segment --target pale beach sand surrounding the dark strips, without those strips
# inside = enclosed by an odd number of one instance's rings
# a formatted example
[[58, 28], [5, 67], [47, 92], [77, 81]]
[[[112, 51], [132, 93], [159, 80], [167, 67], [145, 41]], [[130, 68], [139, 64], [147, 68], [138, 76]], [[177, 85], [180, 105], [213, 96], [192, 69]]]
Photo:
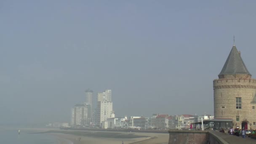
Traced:
[[[122, 134], [133, 134], [135, 136], [145, 136], [140, 138], [107, 138], [107, 137], [91, 137], [91, 136], [77, 136], [70, 134], [61, 133], [67, 130], [60, 130], [58, 128], [21, 128], [21, 131], [31, 131], [31, 132], [47, 132], [47, 131], [57, 131], [54, 133], [47, 133], [49, 135], [55, 136], [58, 139], [59, 144], [168, 144], [169, 134], [168, 133], [127, 133], [127, 132], [118, 132]], [[58, 131], [60, 133], [58, 133]], [[68, 130], [69, 132], [77, 132]], [[89, 131], [91, 133], [95, 133], [96, 131]], [[103, 131], [99, 131], [103, 132]], [[105, 132], [105, 133], [115, 133], [115, 132]], [[40, 134], [40, 133], [39, 133]], [[78, 141], [78, 139], [80, 141]]]

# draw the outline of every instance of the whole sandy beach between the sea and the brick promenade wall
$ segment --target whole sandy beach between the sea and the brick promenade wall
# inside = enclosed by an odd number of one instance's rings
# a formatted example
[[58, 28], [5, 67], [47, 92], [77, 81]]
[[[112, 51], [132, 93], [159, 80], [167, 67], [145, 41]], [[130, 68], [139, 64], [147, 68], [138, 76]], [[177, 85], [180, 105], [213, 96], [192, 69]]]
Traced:
[[[58, 128], [21, 128], [21, 132], [53, 136], [57, 144], [168, 144], [168, 133], [74, 131]], [[79, 141], [79, 138], [80, 141]]]

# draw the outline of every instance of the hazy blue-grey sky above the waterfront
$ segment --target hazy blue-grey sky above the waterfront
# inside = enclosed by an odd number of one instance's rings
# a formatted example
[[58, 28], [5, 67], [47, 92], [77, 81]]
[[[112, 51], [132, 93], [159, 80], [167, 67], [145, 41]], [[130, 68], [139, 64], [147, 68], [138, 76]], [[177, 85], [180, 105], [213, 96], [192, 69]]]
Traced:
[[256, 78], [255, 5], [0, 0], [0, 123], [69, 122], [87, 88], [111, 89], [117, 116], [213, 115], [233, 35]]

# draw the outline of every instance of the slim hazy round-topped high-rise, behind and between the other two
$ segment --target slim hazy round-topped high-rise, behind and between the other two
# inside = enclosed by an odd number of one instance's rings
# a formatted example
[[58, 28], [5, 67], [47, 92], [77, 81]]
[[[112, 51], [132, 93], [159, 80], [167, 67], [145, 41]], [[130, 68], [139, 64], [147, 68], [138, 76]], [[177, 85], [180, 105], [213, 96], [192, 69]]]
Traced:
[[85, 91], [85, 104], [88, 108], [88, 118], [91, 121], [93, 117], [93, 91], [90, 89]]

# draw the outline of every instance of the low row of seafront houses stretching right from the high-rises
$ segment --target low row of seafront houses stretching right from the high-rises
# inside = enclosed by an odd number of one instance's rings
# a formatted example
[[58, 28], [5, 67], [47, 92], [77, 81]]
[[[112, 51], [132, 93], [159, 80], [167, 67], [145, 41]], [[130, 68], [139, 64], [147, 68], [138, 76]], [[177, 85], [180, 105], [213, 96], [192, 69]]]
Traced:
[[192, 123], [200, 122], [201, 120], [211, 120], [213, 116], [204, 115], [165, 115], [153, 114], [152, 117], [111, 117], [104, 122], [102, 128], [132, 128], [132, 129], [189, 129]]

